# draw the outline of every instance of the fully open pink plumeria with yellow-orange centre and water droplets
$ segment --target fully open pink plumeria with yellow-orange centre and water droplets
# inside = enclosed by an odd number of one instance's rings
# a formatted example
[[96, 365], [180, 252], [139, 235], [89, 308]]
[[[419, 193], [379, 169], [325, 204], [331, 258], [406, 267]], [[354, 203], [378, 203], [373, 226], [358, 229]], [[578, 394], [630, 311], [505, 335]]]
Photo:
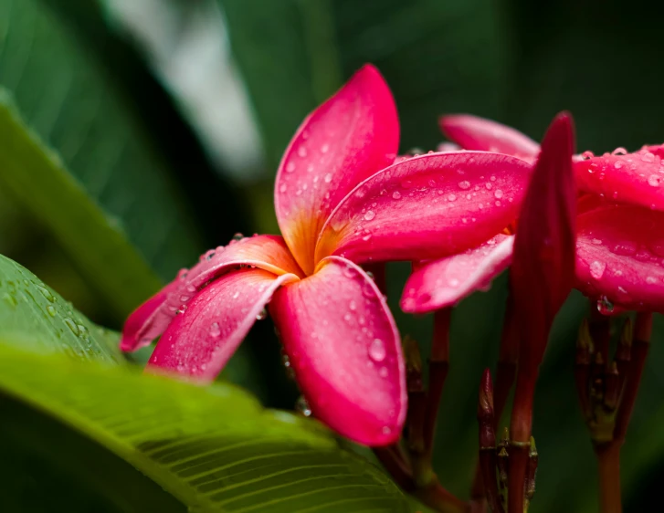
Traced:
[[[394, 99], [366, 66], [290, 141], [274, 191], [283, 237], [208, 252], [133, 312], [121, 348], [163, 333], [149, 366], [209, 382], [269, 306], [311, 412], [358, 443], [394, 443], [406, 417], [400, 337], [358, 264], [476, 246], [516, 215], [528, 168], [488, 152], [393, 164], [398, 138]], [[486, 189], [459, 191], [498, 171], [496, 186], [514, 191], [513, 203], [489, 205]]]

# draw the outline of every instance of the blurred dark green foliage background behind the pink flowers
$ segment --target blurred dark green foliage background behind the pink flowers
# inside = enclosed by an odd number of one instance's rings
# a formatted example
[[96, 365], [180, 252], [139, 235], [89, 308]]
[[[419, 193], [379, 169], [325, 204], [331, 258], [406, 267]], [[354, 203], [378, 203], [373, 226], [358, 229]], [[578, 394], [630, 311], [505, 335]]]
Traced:
[[[646, 0], [0, 0], [0, 85], [168, 280], [236, 232], [278, 232], [272, 184], [281, 152], [304, 116], [365, 62], [395, 94], [403, 152], [434, 149], [437, 117], [460, 111], [539, 139], [557, 111], [571, 110], [580, 150], [663, 141], [662, 14], [663, 3]], [[121, 309], [58, 240], [0, 189], [0, 253], [119, 329]], [[393, 311], [402, 333], [427, 347], [430, 319], [397, 307], [406, 273], [389, 267]], [[436, 469], [462, 496], [505, 285], [501, 277], [453, 318]], [[570, 298], [543, 365], [534, 513], [595, 508], [595, 461], [571, 373], [587, 308]], [[659, 320], [624, 449], [627, 511], [659, 495], [664, 472]], [[224, 375], [269, 406], [291, 408], [298, 395], [269, 320]]]

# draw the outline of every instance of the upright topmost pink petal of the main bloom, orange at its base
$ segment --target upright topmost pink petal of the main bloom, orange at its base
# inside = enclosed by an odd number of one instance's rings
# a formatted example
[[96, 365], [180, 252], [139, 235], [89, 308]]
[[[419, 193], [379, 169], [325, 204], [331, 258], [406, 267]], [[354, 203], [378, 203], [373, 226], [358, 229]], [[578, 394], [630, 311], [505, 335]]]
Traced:
[[357, 183], [395, 161], [398, 143], [394, 99], [368, 65], [301, 124], [279, 165], [274, 204], [281, 233], [307, 274], [325, 219]]

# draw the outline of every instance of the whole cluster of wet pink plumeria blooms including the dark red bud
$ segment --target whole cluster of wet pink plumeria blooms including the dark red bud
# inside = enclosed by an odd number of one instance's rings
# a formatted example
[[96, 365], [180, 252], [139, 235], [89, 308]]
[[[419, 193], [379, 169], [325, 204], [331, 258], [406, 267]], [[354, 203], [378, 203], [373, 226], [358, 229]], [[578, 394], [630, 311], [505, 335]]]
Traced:
[[[132, 313], [121, 349], [161, 336], [151, 372], [210, 382], [267, 309], [312, 414], [355, 442], [394, 446], [413, 380], [384, 290], [364, 267], [412, 261], [401, 308], [426, 313], [488, 288], [511, 266], [508, 317], [520, 319], [503, 340], [519, 361], [511, 443], [528, 445], [537, 370], [571, 288], [604, 314], [664, 307], [664, 146], [575, 155], [565, 113], [542, 146], [469, 115], [440, 125], [458, 147], [398, 156], [394, 99], [375, 68], [362, 68], [284, 153], [274, 188], [281, 235], [238, 236], [208, 251]], [[502, 395], [513, 377], [499, 376]], [[495, 439], [491, 386], [485, 375], [486, 440]], [[510, 488], [523, 489], [531, 456], [512, 453]], [[510, 496], [510, 511], [522, 511], [522, 500]]]

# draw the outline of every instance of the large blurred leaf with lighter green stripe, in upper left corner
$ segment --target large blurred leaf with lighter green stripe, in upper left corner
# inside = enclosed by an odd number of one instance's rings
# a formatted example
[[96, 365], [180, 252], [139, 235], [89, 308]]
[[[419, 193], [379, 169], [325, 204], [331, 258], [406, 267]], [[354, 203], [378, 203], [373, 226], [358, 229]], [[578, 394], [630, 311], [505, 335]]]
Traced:
[[[0, 0], [0, 85], [16, 99], [25, 124], [64, 162], [37, 136], [20, 133], [24, 123], [5, 94], [0, 183], [47, 225], [124, 315], [154, 291], [156, 281], [131, 248], [122, 247], [121, 232], [163, 278], [194, 261], [201, 243], [169, 162], [95, 57], [41, 2]], [[36, 150], [43, 154], [31, 154]], [[83, 190], [112, 216], [111, 225], [99, 207], [83, 201]]]

